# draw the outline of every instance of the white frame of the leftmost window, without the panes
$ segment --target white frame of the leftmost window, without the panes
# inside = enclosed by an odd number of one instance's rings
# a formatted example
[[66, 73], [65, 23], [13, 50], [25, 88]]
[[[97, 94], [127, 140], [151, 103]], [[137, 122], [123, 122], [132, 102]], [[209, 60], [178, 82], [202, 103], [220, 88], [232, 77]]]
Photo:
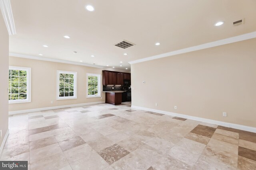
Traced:
[[[27, 72], [27, 98], [21, 100], [9, 100], [9, 104], [31, 102], [31, 68], [20, 66], [9, 66], [9, 70], [23, 70]], [[9, 95], [9, 92], [8, 92]]]

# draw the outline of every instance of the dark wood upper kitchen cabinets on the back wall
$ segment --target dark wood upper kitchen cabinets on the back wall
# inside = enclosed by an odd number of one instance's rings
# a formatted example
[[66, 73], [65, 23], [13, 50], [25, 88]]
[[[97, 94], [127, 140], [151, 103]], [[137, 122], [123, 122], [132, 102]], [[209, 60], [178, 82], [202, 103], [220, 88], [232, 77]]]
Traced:
[[102, 84], [107, 85], [124, 85], [124, 80], [131, 80], [131, 74], [126, 72], [102, 71]]

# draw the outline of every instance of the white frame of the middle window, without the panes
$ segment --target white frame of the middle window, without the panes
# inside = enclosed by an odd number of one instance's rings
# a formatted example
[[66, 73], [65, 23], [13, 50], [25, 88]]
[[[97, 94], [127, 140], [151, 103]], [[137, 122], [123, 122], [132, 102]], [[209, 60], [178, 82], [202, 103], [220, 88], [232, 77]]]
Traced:
[[[74, 75], [74, 96], [65, 96], [60, 97], [59, 96], [59, 90], [60, 90], [60, 74], [73, 74]], [[77, 99], [77, 72], [73, 71], [62, 71], [57, 70], [57, 100], [68, 100], [68, 99]]]

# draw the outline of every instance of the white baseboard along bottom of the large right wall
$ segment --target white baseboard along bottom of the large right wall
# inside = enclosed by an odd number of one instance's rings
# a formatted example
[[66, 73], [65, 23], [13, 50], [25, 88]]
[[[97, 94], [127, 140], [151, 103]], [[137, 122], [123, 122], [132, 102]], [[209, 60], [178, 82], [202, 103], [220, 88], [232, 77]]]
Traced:
[[177, 116], [177, 117], [182, 117], [182, 118], [185, 118], [185, 119], [191, 119], [191, 120], [195, 120], [195, 121], [201, 121], [201, 122], [205, 122], [205, 123], [211, 123], [211, 124], [214, 124], [214, 125], [231, 127], [231, 128], [234, 128], [234, 129], [240, 129], [240, 130], [243, 130], [243, 131], [249, 131], [249, 132], [256, 133], [256, 127], [238, 125], [238, 124], [228, 123], [228, 122], [224, 122], [224, 121], [205, 119], [205, 118], [202, 118], [202, 117], [195, 117], [195, 116], [184, 115], [184, 114], [180, 114], [180, 113], [173, 113], [173, 112], [169, 112], [169, 111], [162, 111], [162, 110], [157, 110], [157, 109], [150, 109], [150, 108], [140, 107], [140, 106], [131, 106], [131, 107], [134, 108], [134, 109], [153, 111], [153, 112], [156, 112], [156, 113], [162, 113], [162, 114], [166, 114], [166, 115]]

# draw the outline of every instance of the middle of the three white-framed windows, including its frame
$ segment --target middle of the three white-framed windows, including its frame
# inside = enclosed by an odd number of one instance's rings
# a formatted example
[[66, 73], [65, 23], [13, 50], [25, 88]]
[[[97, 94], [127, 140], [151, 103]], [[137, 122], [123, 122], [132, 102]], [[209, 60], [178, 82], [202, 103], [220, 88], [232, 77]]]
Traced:
[[57, 100], [76, 99], [76, 74], [57, 70]]

